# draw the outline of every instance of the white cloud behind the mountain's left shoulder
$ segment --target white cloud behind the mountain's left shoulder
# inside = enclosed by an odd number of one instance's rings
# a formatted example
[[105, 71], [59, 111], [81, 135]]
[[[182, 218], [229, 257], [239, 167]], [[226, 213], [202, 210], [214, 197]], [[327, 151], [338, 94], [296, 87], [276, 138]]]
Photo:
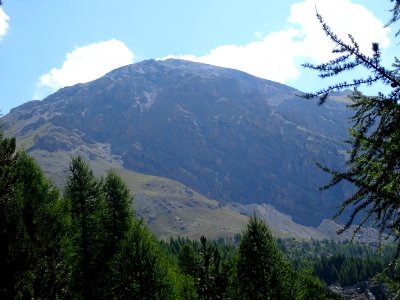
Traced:
[[60, 68], [53, 68], [40, 76], [35, 98], [45, 91], [85, 83], [107, 72], [131, 64], [134, 54], [121, 41], [111, 39], [76, 48], [66, 55]]

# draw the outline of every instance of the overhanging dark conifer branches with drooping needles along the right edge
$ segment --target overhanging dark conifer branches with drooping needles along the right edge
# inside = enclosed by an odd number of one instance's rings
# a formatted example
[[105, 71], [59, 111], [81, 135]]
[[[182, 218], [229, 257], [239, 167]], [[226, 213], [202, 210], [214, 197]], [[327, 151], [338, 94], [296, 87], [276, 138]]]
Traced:
[[[393, 17], [388, 26], [397, 22], [400, 16], [399, 1], [393, 7]], [[383, 233], [400, 237], [400, 61], [395, 58], [392, 68], [381, 63], [378, 43], [372, 43], [372, 55], [360, 49], [357, 41], [349, 35], [349, 41], [338, 37], [317, 13], [325, 34], [334, 44], [333, 53], [337, 57], [327, 63], [305, 64], [307, 68], [319, 72], [322, 78], [340, 76], [346, 72], [363, 69], [369, 72], [366, 77], [352, 82], [339, 81], [322, 88], [307, 98], [319, 97], [324, 103], [332, 91], [354, 88], [350, 108], [354, 111], [348, 144], [350, 153], [347, 169], [338, 171], [321, 166], [332, 175], [331, 182], [322, 189], [330, 188], [339, 182], [349, 182], [355, 186], [353, 195], [344, 199], [338, 213], [350, 211], [350, 218], [340, 232], [347, 230], [357, 217], [359, 230], [362, 225], [374, 224]], [[351, 29], [350, 29], [351, 30]], [[399, 33], [399, 32], [398, 32]], [[397, 34], [398, 34], [397, 33]], [[376, 96], [363, 95], [358, 88], [364, 85], [381, 83], [383, 92]]]

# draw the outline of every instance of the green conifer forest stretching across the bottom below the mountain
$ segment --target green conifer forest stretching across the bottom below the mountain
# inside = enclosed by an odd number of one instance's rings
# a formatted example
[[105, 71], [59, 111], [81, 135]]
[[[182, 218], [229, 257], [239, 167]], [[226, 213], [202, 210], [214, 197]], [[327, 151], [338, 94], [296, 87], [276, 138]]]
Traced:
[[276, 240], [257, 217], [231, 240], [158, 241], [113, 172], [74, 157], [63, 191], [0, 133], [1, 299], [340, 299], [394, 249]]

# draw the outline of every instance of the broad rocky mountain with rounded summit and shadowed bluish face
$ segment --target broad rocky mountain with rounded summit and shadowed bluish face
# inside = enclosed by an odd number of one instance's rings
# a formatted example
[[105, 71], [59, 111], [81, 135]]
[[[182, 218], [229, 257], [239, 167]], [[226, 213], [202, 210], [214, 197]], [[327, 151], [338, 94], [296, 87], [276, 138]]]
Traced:
[[[162, 176], [219, 205], [269, 204], [305, 226], [330, 218], [349, 189], [318, 190], [341, 168], [349, 112], [237, 70], [148, 60], [66, 87], [2, 118], [59, 185], [75, 153]], [[96, 163], [97, 162], [97, 163]]]

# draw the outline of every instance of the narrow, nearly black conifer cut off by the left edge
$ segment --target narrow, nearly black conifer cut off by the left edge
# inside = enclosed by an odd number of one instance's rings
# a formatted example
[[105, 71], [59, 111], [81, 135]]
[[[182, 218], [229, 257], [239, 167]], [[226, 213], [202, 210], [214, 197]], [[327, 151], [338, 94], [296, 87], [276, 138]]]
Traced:
[[[18, 197], [15, 138], [0, 131], [0, 298], [31, 296], [29, 240], [22, 218], [23, 202]], [[25, 284], [29, 281], [29, 284]]]

